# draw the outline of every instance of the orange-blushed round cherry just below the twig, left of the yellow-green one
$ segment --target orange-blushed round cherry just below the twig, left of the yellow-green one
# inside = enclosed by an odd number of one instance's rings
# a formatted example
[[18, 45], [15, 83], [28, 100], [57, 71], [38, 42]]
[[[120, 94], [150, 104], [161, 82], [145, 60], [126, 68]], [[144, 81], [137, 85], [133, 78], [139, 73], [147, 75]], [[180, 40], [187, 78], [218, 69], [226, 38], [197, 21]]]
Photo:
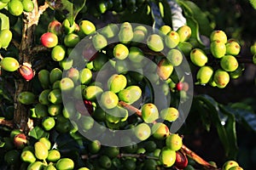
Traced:
[[169, 128], [162, 122], [155, 123], [151, 129], [155, 139], [166, 139], [170, 134]]

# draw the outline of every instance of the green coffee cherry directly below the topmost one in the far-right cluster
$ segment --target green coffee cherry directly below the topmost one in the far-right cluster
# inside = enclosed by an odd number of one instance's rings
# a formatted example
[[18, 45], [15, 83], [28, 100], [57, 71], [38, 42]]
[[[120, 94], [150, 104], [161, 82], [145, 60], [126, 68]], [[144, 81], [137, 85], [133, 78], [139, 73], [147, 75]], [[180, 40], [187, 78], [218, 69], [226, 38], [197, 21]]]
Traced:
[[226, 54], [226, 45], [224, 42], [221, 42], [219, 40], [211, 42], [210, 48], [212, 55], [217, 59], [222, 58], [224, 54]]

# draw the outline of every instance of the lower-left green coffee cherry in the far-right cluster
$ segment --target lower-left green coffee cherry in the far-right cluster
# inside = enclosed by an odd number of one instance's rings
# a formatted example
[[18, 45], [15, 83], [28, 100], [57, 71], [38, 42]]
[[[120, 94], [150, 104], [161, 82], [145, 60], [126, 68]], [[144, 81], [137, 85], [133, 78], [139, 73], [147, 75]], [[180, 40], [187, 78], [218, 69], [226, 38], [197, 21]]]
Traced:
[[213, 69], [210, 66], [202, 66], [196, 73], [196, 79], [200, 84], [209, 82], [213, 75]]

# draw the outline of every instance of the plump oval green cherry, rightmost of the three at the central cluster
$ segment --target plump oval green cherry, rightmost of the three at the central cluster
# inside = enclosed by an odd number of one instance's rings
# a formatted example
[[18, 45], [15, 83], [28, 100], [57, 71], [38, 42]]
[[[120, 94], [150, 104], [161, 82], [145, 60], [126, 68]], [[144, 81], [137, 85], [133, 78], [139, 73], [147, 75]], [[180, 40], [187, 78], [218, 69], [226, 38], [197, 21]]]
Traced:
[[120, 100], [131, 105], [141, 98], [142, 90], [138, 86], [129, 86], [128, 88], [121, 90], [118, 96]]

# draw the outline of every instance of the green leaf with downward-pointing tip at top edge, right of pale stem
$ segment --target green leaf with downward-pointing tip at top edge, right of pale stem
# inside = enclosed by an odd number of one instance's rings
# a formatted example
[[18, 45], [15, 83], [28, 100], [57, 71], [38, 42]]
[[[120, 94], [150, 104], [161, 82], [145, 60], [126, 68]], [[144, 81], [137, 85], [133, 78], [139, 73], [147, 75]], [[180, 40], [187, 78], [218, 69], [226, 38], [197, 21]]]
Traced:
[[86, 0], [46, 0], [46, 2], [50, 8], [64, 15], [72, 26], [79, 11], [84, 8]]

